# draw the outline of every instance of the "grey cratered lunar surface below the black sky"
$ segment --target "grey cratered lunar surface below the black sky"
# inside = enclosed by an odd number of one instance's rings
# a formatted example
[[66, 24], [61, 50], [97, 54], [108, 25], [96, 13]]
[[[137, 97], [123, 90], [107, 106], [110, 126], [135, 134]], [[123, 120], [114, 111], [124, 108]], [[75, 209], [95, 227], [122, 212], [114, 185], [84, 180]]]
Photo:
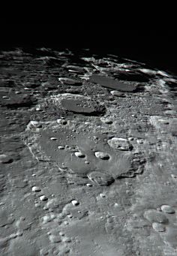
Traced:
[[0, 72], [0, 255], [177, 255], [177, 77], [43, 47]]

